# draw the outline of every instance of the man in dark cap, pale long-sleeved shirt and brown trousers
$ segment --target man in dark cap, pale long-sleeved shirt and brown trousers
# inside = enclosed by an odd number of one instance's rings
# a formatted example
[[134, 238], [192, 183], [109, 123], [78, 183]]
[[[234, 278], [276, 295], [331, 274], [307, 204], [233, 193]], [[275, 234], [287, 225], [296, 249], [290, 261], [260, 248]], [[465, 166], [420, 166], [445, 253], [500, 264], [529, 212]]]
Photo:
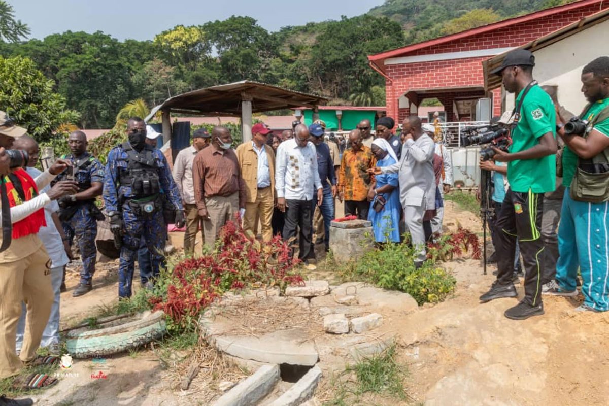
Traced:
[[[178, 152], [175, 157], [172, 176], [178, 185], [184, 211], [186, 214], [186, 232], [184, 233], [184, 252], [186, 256], [194, 254], [195, 240], [199, 227], [203, 229], [203, 217], [199, 215], [194, 198], [194, 184], [192, 183], [192, 162], [200, 150], [209, 145], [211, 136], [205, 128], [199, 128], [192, 133], [192, 145]], [[202, 243], [205, 242], [203, 231], [201, 232]]]

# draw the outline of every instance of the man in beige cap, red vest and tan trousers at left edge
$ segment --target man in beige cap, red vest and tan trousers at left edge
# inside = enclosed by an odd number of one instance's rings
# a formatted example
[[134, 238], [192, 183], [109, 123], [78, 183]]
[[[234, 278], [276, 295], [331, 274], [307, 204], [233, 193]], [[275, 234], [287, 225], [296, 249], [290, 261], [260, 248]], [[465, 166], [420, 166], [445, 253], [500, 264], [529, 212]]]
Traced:
[[[12, 119], [0, 111], [0, 147], [10, 149], [13, 140], [25, 133], [24, 128], [14, 125]], [[5, 155], [9, 153], [5, 152]], [[66, 181], [55, 184], [47, 193], [38, 194], [38, 189], [49, 184], [68, 167], [65, 161], [58, 160], [33, 180], [23, 169], [27, 164], [26, 154], [12, 151], [10, 158], [9, 173], [2, 177], [6, 192], [2, 200], [10, 206], [12, 231], [7, 236], [5, 231], [10, 228], [3, 227], [2, 241], [6, 242], [10, 238], [11, 243], [0, 253], [0, 326], [3, 331], [0, 335], [0, 379], [18, 374], [24, 363], [32, 363], [36, 359], [36, 351], [54, 299], [48, 267], [49, 256], [37, 236], [41, 226], [46, 225], [43, 207], [51, 200], [77, 191], [76, 183]], [[22, 301], [26, 302], [29, 328], [26, 329], [18, 357], [15, 340]], [[53, 383], [54, 378], [42, 374], [35, 380], [15, 382], [14, 385], [30, 390]]]

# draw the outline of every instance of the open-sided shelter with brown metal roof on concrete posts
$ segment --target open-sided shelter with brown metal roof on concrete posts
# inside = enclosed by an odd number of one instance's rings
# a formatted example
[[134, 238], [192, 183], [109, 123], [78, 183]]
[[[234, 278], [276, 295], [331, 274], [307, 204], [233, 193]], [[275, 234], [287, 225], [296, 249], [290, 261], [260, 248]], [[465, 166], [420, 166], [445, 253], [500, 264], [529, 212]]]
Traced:
[[146, 121], [157, 111], [163, 113], [163, 141], [171, 139], [171, 113], [199, 116], [241, 117], [243, 141], [252, 139], [252, 113], [285, 108], [317, 106], [328, 99], [314, 94], [292, 91], [266, 83], [242, 80], [178, 94], [153, 108]]

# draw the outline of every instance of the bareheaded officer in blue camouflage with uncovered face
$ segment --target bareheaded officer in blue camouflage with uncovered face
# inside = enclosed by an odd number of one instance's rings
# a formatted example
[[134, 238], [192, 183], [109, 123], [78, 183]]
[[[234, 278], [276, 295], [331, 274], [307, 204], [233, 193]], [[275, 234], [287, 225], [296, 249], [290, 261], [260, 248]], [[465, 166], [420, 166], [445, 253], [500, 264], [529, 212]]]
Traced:
[[64, 196], [58, 200], [63, 231], [70, 246], [76, 237], [82, 258], [80, 283], [72, 296], [82, 296], [93, 289], [93, 274], [97, 250], [97, 220], [104, 220], [104, 215], [95, 205], [95, 199], [102, 194], [104, 167], [90, 153], [86, 152], [86, 135], [82, 131], [72, 131], [68, 138], [71, 155], [62, 156], [72, 163], [71, 167], [60, 173], [55, 182], [74, 180], [78, 183], [79, 192]]

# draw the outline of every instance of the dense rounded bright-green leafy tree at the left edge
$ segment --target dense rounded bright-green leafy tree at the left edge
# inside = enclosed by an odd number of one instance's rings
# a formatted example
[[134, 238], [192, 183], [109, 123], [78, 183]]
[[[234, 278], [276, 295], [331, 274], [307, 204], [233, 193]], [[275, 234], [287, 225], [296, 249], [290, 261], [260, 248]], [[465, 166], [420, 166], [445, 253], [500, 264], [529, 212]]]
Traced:
[[39, 142], [52, 138], [61, 125], [78, 120], [78, 113], [66, 108], [66, 99], [54, 93], [53, 85], [32, 60], [0, 57], [0, 110]]

